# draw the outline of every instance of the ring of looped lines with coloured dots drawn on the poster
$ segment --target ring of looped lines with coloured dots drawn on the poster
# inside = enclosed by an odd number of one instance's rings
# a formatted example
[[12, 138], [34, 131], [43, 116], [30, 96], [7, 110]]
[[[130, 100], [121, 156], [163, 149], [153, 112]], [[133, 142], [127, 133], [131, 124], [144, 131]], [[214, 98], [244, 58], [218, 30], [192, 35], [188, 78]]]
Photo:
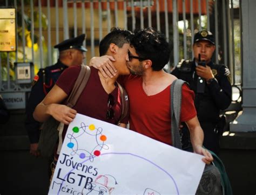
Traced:
[[[107, 140], [107, 137], [102, 134], [103, 129], [101, 127], [96, 128], [94, 124], [90, 124], [86, 126], [85, 123], [81, 123], [80, 127], [73, 127], [72, 134], [68, 134], [67, 138], [69, 138], [69, 143], [67, 144], [68, 148], [72, 149], [71, 156], [78, 155], [79, 158], [89, 158], [91, 162], [95, 156], [99, 156], [101, 154], [102, 149], [108, 150], [109, 147], [104, 144]], [[85, 149], [79, 148], [77, 138], [80, 136], [92, 136], [95, 137], [96, 146], [92, 149], [92, 151], [87, 151]]]

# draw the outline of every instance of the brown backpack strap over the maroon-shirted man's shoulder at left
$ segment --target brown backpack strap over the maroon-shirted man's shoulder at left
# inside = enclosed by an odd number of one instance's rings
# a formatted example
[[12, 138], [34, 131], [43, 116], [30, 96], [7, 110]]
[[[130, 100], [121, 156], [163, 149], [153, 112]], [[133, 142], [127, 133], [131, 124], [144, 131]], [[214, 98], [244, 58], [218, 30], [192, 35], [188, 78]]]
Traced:
[[[90, 78], [91, 74], [91, 69], [89, 66], [81, 65], [80, 72], [77, 76], [77, 80], [75, 82], [75, 85], [72, 88], [72, 91], [69, 95], [68, 100], [66, 101], [66, 106], [72, 108], [73, 106], [76, 105], [78, 98], [80, 97], [81, 93], [83, 92], [87, 81]], [[59, 131], [59, 144], [58, 144], [58, 149], [57, 149], [57, 154], [60, 154], [60, 150], [62, 149], [62, 133], [64, 129], [64, 123], [59, 123], [58, 126], [58, 131]]]

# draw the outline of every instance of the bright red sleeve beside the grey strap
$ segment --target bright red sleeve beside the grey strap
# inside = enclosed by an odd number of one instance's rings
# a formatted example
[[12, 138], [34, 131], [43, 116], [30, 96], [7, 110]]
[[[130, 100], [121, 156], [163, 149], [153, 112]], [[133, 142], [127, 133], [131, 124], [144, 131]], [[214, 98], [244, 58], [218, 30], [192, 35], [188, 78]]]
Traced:
[[196, 115], [197, 110], [194, 107], [194, 92], [185, 84], [182, 86], [180, 121], [189, 121]]

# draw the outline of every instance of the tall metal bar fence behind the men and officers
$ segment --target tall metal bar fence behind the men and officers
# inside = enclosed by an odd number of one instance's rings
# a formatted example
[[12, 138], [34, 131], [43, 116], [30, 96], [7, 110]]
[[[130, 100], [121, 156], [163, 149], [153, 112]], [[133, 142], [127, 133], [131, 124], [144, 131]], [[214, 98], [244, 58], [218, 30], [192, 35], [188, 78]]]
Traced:
[[0, 52], [1, 93], [30, 90], [28, 83], [17, 83], [14, 62], [33, 62], [36, 73], [57, 61], [55, 44], [81, 33], [87, 35], [84, 46], [89, 61], [98, 55], [99, 41], [113, 26], [128, 30], [150, 26], [165, 33], [173, 48], [167, 71], [183, 58], [193, 59], [194, 33], [210, 30], [216, 44], [213, 60], [230, 68], [233, 84], [241, 81], [239, 1], [6, 0], [2, 6], [16, 8], [17, 51]]

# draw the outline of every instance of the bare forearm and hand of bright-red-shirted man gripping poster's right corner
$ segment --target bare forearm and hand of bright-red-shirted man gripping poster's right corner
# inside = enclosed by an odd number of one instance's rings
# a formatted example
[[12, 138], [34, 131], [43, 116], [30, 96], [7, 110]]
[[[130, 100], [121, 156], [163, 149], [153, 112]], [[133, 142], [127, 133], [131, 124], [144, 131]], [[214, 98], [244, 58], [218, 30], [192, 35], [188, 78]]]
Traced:
[[204, 131], [200, 126], [197, 116], [193, 119], [186, 121], [188, 129], [190, 129], [190, 140], [195, 153], [204, 155], [202, 159], [206, 164], [210, 164], [213, 161], [213, 157], [208, 150], [203, 148]]

